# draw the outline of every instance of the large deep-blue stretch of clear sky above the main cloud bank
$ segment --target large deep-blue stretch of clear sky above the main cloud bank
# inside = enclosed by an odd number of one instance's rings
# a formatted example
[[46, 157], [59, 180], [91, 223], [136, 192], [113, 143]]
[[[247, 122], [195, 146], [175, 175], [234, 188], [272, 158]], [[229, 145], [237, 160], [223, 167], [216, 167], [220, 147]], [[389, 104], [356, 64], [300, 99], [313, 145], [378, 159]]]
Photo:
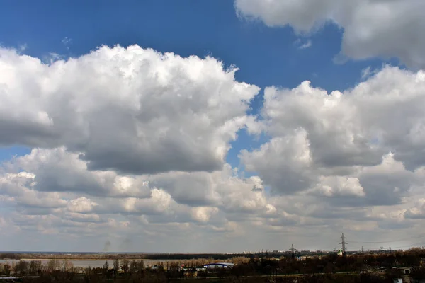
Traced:
[[[382, 64], [377, 60], [334, 64], [342, 35], [334, 25], [310, 37], [311, 48], [298, 50], [294, 42], [300, 37], [290, 27], [240, 21], [232, 1], [225, 0], [128, 1], [123, 6], [114, 1], [9, 2], [0, 13], [1, 45], [27, 45], [25, 53], [31, 56], [56, 52], [76, 57], [117, 44], [138, 44], [183, 57], [211, 54], [239, 67], [237, 79], [261, 88], [292, 88], [309, 79], [314, 86], [344, 89], [360, 80], [365, 67]], [[62, 43], [65, 37], [72, 40], [69, 50]]]

